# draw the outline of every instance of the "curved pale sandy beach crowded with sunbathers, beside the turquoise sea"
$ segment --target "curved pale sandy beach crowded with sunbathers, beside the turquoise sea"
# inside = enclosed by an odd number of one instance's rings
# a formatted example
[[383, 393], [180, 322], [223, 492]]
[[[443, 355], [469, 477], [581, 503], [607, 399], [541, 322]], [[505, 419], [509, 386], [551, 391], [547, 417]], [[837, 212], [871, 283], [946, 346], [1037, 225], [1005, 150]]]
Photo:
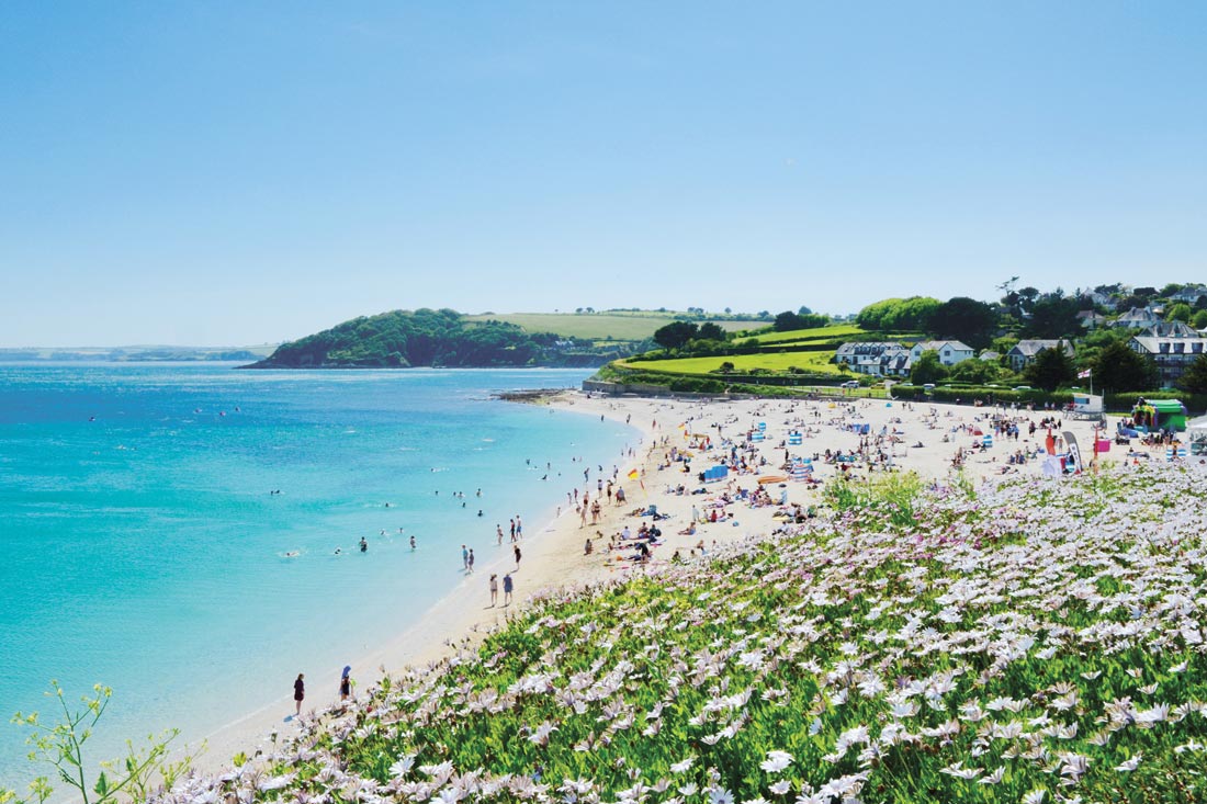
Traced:
[[[964, 454], [963, 477], [980, 484], [998, 477], [1040, 473], [1042, 460], [1032, 458], [1011, 464], [1009, 458], [1020, 451], [1034, 455], [1044, 449], [1048, 427], [1040, 426], [1040, 423], [1045, 418], [1060, 419], [1060, 426], [1053, 427], [1053, 432], [1056, 436], [1072, 432], [1086, 460], [1092, 450], [1094, 435], [1090, 423], [1063, 419], [1060, 413], [888, 403], [884, 400], [702, 402], [588, 396], [575, 391], [544, 403], [556, 414], [626, 421], [641, 431], [641, 442], [630, 445], [625, 455], [618, 454], [614, 466], [605, 466], [602, 472], [597, 466], [589, 467], [585, 483], [581, 474], [558, 478], [565, 484], [555, 491], [560, 494], [560, 500], [550, 500], [550, 507], [560, 506], [558, 515], [550, 522], [525, 523], [520, 543], [523, 561], [513, 572], [515, 595], [511, 607], [502, 606], [502, 575], [515, 566], [505, 534], [502, 548], [491, 552], [480, 549], [477, 571], [467, 575], [449, 595], [428, 610], [420, 624], [351, 663], [352, 675], [361, 684], [371, 686], [384, 672], [392, 674], [408, 665], [431, 662], [455, 640], [480, 639], [506, 622], [508, 614], [521, 608], [526, 598], [550, 587], [657, 571], [676, 553], [681, 560], [696, 560], [701, 544], [705, 550], [711, 550], [715, 546], [770, 532], [785, 522], [785, 511], [791, 513], [799, 505], [800, 512], [806, 514], [810, 506], [821, 505], [826, 485], [833, 483], [839, 473], [846, 472], [852, 479], [862, 480], [886, 471], [914, 471], [923, 478], [943, 482], [954, 477], [952, 461], [961, 451]], [[991, 421], [1001, 416], [1018, 421], [1018, 439], [997, 437], [992, 447], [982, 448], [985, 433], [993, 432]], [[748, 433], [760, 432], [760, 423], [765, 427], [762, 431], [764, 438], [747, 442]], [[1030, 429], [1032, 423], [1037, 425], [1034, 433]], [[799, 445], [787, 443], [792, 431], [800, 433]], [[826, 460], [827, 450], [832, 455], [838, 451], [858, 453], [861, 444], [870, 461]], [[709, 449], [699, 449], [704, 445]], [[733, 451], [735, 449], [736, 453]], [[699, 480], [698, 473], [713, 466], [717, 459], [733, 454], [745, 462], [745, 472], [730, 471], [724, 479], [711, 483]], [[783, 470], [786, 458], [810, 459], [812, 477], [818, 483], [785, 477], [788, 474]], [[1110, 453], [1104, 458], [1119, 461], [1123, 455]], [[869, 470], [869, 462], [875, 467]], [[689, 467], [687, 471], [684, 465]], [[614, 489], [623, 489], [625, 494], [625, 501], [619, 505], [614, 497], [610, 500], [606, 494], [601, 495], [597, 488], [600, 479], [606, 483], [613, 472]], [[632, 473], [636, 473], [636, 479], [632, 479]], [[782, 480], [759, 483], [760, 478], [781, 477]], [[593, 524], [588, 514], [587, 524], [583, 524], [575, 507], [576, 487], [579, 501], [584, 493], [589, 494], [591, 502], [599, 499], [601, 515], [597, 523]], [[680, 487], [683, 487], [682, 493]], [[759, 488], [765, 494], [760, 495], [759, 502], [752, 503], [751, 494]], [[702, 493], [693, 494], [701, 489]], [[651, 505], [657, 507], [657, 520], [639, 514]], [[693, 512], [698, 519], [694, 532], [683, 532], [693, 530]], [[713, 512], [718, 522], [711, 522]], [[659, 543], [648, 561], [631, 560], [636, 553], [634, 542], [618, 542], [618, 549], [608, 549], [610, 541], [617, 540], [625, 528], [635, 535], [642, 524], [661, 530]], [[590, 554], [584, 550], [588, 538], [593, 540]], [[495, 544], [489, 547], [495, 548]], [[488, 560], [488, 555], [497, 558]], [[500, 576], [500, 605], [495, 607], [490, 606], [488, 589], [488, 578], [492, 572]], [[327, 675], [308, 676], [303, 717], [336, 703], [334, 681], [338, 676], [339, 668], [331, 668]], [[288, 691], [291, 681], [281, 680], [282, 693]], [[210, 771], [222, 769], [235, 753], [251, 756], [267, 747], [272, 734], [291, 734], [297, 728], [288, 717], [292, 712], [291, 697], [282, 694], [208, 735], [208, 750], [198, 759], [198, 767]]]

